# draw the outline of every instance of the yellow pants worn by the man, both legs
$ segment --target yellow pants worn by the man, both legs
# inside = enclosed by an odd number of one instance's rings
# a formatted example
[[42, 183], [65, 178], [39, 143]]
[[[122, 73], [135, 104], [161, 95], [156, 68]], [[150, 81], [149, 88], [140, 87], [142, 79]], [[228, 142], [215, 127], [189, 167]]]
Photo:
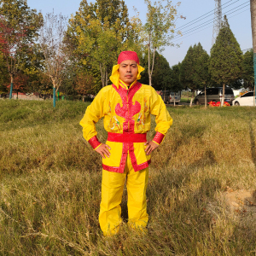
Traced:
[[125, 172], [102, 171], [102, 202], [99, 221], [104, 236], [111, 236], [119, 231], [123, 189], [128, 193], [128, 224], [131, 228], [142, 228], [148, 224], [146, 189], [148, 168], [134, 172], [130, 155], [127, 155]]

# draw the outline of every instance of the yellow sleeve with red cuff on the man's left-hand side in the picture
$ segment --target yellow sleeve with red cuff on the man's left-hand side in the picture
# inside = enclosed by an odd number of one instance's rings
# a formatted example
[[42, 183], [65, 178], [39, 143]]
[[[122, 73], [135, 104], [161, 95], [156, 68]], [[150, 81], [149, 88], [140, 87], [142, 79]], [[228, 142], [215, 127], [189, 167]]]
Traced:
[[[103, 90], [103, 89], [102, 89]], [[104, 116], [104, 95], [100, 90], [90, 106], [86, 108], [83, 119], [80, 125], [83, 127], [83, 136], [93, 148], [97, 148], [101, 143], [97, 141], [96, 122]]]

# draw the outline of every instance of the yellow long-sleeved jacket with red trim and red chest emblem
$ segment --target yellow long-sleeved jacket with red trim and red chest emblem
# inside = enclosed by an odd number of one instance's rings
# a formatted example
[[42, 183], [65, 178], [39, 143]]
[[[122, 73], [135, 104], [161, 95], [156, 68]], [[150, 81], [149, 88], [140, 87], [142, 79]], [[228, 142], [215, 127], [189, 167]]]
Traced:
[[[156, 123], [153, 141], [160, 144], [172, 125], [172, 118], [166, 110], [165, 103], [152, 86], [135, 81], [128, 89], [120, 80], [119, 87], [112, 84], [100, 90], [86, 109], [80, 125], [83, 126], [85, 140], [95, 149], [101, 145], [96, 138], [95, 124], [102, 117], [109, 136], [122, 137], [121, 142], [118, 139], [108, 139], [106, 144], [111, 148], [110, 157], [103, 159], [104, 170], [124, 172], [128, 151], [136, 172], [148, 167], [150, 155], [145, 153], [145, 142], [142, 142], [140, 135], [135, 134], [145, 134], [150, 130], [150, 114], [155, 115]], [[125, 141], [122, 141], [124, 138]], [[130, 138], [128, 143], [126, 138], [128, 141]]]

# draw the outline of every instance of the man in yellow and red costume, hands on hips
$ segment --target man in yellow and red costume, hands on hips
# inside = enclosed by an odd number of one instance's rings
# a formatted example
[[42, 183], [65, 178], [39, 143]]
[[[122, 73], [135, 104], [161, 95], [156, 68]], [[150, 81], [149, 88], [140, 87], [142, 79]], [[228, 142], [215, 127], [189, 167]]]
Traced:
[[[154, 88], [137, 82], [144, 70], [137, 53], [123, 51], [118, 65], [113, 66], [108, 85], [98, 93], [86, 109], [80, 125], [84, 138], [102, 155], [102, 202], [99, 222], [104, 236], [116, 234], [121, 223], [123, 189], [128, 193], [128, 224], [142, 230], [148, 224], [146, 189], [150, 154], [158, 148], [172, 118]], [[155, 115], [156, 134], [147, 142], [150, 114]], [[96, 122], [104, 117], [107, 143], [96, 137]]]

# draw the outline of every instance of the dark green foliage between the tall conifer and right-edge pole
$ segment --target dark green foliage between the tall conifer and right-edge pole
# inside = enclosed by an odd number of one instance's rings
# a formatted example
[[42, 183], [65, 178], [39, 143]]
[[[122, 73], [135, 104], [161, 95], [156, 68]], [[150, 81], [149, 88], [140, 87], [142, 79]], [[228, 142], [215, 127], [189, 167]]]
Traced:
[[247, 50], [243, 55], [242, 79], [244, 87], [253, 90], [254, 87], [254, 69], [253, 69], [253, 49]]

